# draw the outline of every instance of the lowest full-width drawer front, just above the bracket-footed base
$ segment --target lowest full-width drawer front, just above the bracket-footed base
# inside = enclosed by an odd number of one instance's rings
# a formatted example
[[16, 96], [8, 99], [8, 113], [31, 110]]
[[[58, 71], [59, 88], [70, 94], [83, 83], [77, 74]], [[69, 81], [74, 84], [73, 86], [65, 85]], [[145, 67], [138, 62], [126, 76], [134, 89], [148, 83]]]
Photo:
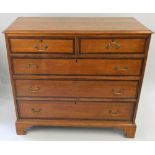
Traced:
[[18, 101], [21, 118], [132, 120], [134, 103]]

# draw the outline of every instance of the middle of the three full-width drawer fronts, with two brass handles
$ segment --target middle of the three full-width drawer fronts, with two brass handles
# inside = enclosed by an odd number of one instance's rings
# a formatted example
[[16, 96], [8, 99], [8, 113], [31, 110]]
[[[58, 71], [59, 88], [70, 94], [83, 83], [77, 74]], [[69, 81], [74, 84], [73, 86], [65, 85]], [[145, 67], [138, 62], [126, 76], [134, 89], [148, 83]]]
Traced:
[[135, 98], [135, 81], [15, 80], [17, 96]]

